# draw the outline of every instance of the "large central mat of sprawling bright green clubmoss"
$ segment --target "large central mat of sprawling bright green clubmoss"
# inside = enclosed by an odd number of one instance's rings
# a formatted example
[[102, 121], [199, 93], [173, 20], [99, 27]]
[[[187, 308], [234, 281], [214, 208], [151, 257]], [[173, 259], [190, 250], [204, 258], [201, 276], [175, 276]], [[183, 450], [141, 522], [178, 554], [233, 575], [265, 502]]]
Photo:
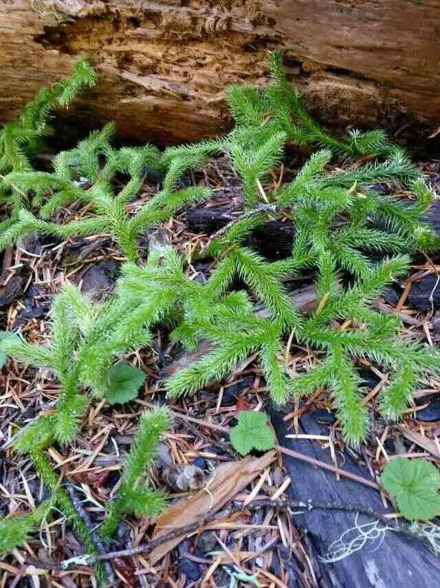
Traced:
[[[440, 369], [438, 353], [402, 339], [399, 320], [372, 306], [384, 288], [408, 270], [408, 253], [438, 246], [437, 236], [419, 220], [430, 207], [432, 190], [404, 151], [388, 145], [382, 133], [353, 132], [347, 140], [327, 134], [289, 87], [277, 55], [272, 56], [272, 70], [276, 84], [263, 91], [231, 88], [236, 127], [225, 138], [170, 147], [160, 155], [148, 145], [114, 149], [113, 127], [107, 125], [76, 149], [59, 154], [54, 173], [19, 170], [6, 176], [6, 185], [25, 195], [32, 191], [41, 213], [36, 218], [22, 210], [19, 222], [0, 236], [0, 244], [29, 231], [61, 237], [109, 231], [129, 259], [117, 292], [104, 304], [91, 305], [76, 288], [64, 288], [54, 302], [50, 348], [0, 342], [0, 350], [52, 368], [61, 381], [58, 414], [43, 421], [39, 439], [46, 439], [50, 427], [58, 441], [74, 437], [87, 402], [83, 388], [98, 396], [110, 391], [113, 401], [118, 395], [118, 401], [132, 398], [134, 384], [122, 396], [112, 387], [111, 366], [126, 351], [148, 344], [149, 328], [158, 323], [170, 328], [171, 339], [188, 350], [202, 340], [211, 346], [165, 382], [171, 396], [226, 377], [256, 354], [277, 403], [329, 388], [344, 437], [351, 443], [364, 439], [369, 428], [355, 367], [359, 359], [390, 372], [381, 396], [389, 419], [399, 417], [424, 372]], [[267, 187], [266, 178], [292, 140], [323, 148], [292, 181]], [[245, 211], [197, 252], [200, 258], [213, 259], [206, 283], [190, 280], [183, 260], [170, 247], [151, 251], [140, 266], [137, 235], [185, 203], [208, 197], [201, 187], [179, 189], [179, 178], [221, 149], [242, 179]], [[336, 151], [378, 156], [365, 165], [329, 172]], [[145, 166], [166, 172], [162, 189], [130, 217], [126, 204], [139, 193]], [[414, 203], [408, 207], [382, 196], [375, 190], [381, 181], [411, 189]], [[47, 220], [77, 200], [87, 204], [93, 216], [64, 225]], [[272, 218], [292, 218], [296, 230], [292, 255], [277, 262], [268, 262], [246, 242], [252, 230], [263, 229]], [[371, 253], [393, 257], [375, 263]], [[284, 285], [303, 271], [314, 273], [318, 297], [317, 310], [307, 317], [292, 304]], [[234, 290], [237, 278], [246, 291]], [[263, 315], [254, 313], [255, 300], [262, 303]], [[319, 358], [318, 366], [294, 377], [283, 361], [284, 342], [291, 334], [294, 343], [317, 350]]]

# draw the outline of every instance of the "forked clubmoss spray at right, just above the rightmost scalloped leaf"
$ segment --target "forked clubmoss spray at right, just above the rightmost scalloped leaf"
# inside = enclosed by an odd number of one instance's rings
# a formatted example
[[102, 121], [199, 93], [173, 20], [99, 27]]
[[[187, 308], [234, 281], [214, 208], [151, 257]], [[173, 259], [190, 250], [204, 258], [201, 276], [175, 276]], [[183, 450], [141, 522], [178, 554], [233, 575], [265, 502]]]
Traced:
[[[399, 417], [424, 371], [440, 370], [436, 351], [406, 342], [399, 336], [399, 319], [370, 307], [387, 284], [404, 273], [408, 263], [405, 256], [385, 259], [340, 292], [337, 282], [328, 283], [325, 266], [318, 271], [318, 310], [307, 317], [300, 339], [322, 350], [325, 357], [315, 370], [294, 378], [292, 388], [300, 396], [328, 386], [333, 391], [344, 437], [351, 443], [359, 443], [368, 431], [366, 408], [361, 402], [362, 381], [352, 359], [369, 359], [394, 373], [380, 397], [381, 408], [389, 419]], [[342, 328], [347, 319], [347, 328]]]

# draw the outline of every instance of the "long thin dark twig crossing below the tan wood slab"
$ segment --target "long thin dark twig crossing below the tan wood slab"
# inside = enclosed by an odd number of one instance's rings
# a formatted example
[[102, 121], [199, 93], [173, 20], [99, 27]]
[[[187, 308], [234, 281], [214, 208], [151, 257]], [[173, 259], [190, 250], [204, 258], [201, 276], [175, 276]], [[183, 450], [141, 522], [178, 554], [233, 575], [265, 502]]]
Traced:
[[[345, 504], [345, 503], [333, 503], [333, 502], [318, 502], [318, 501], [295, 501], [295, 500], [283, 500], [283, 501], [272, 501], [272, 500], [262, 500], [259, 501], [256, 505], [248, 505], [248, 508], [251, 509], [257, 509], [257, 508], [261, 508], [263, 506], [268, 506], [268, 507], [276, 507], [276, 508], [290, 508], [290, 509], [295, 509], [298, 511], [304, 511], [304, 512], [310, 512], [312, 510], [343, 510], [346, 512], [356, 512], [356, 513], [360, 513], [360, 514], [365, 514], [366, 516], [369, 516], [373, 519], [376, 519], [377, 521], [380, 521], [381, 523], [384, 523], [386, 525], [390, 525], [391, 521], [389, 518], [386, 517], [386, 515], [380, 513], [380, 512], [376, 512], [375, 510], [373, 510], [372, 508], [368, 508], [368, 507], [364, 507], [363, 505], [357, 505], [357, 504]], [[230, 516], [231, 514], [234, 514], [236, 512], [241, 512], [241, 510], [243, 510], [243, 506], [234, 506], [234, 507], [230, 507], [228, 510], [223, 511], [221, 518], [227, 518], [228, 516]], [[145, 543], [143, 545], [138, 545], [137, 547], [132, 547], [131, 549], [122, 549], [120, 551], [117, 552], [109, 552], [107, 554], [99, 554], [99, 555], [83, 555], [83, 556], [77, 556], [74, 558], [70, 558], [68, 560], [65, 560], [61, 563], [45, 563], [45, 562], [39, 562], [39, 561], [32, 561], [30, 562], [28, 565], [33, 565], [34, 567], [40, 568], [40, 569], [59, 569], [59, 570], [65, 570], [65, 569], [69, 569], [70, 567], [74, 566], [74, 565], [91, 565], [94, 564], [98, 561], [102, 561], [102, 560], [110, 560], [110, 559], [114, 559], [114, 558], [120, 558], [120, 557], [128, 557], [128, 556], [134, 556], [136, 554], [147, 554], [153, 551], [153, 549], [155, 549], [155, 547], [158, 547], [159, 545], [162, 545], [162, 543], [166, 543], [166, 541], [170, 540], [170, 539], [175, 539], [176, 537], [180, 537], [181, 535], [185, 535], [187, 533], [190, 533], [192, 531], [195, 531], [197, 529], [200, 529], [201, 527], [203, 527], [203, 525], [206, 525], [208, 523], [211, 523], [212, 521], [214, 521], [216, 518], [218, 518], [218, 514], [214, 513], [211, 516], [207, 516], [203, 521], [196, 521], [195, 523], [189, 523], [188, 525], [184, 525], [184, 527], [179, 527], [177, 529], [173, 529], [172, 531], [157, 537], [156, 539], [151, 540], [149, 543]], [[412, 531], [410, 525], [407, 525], [406, 523], [397, 523], [397, 521], [393, 521], [393, 530], [396, 532], [401, 532], [404, 533], [408, 536], [410, 536], [411, 538], [419, 538], [419, 536], [417, 535], [417, 532]]]

